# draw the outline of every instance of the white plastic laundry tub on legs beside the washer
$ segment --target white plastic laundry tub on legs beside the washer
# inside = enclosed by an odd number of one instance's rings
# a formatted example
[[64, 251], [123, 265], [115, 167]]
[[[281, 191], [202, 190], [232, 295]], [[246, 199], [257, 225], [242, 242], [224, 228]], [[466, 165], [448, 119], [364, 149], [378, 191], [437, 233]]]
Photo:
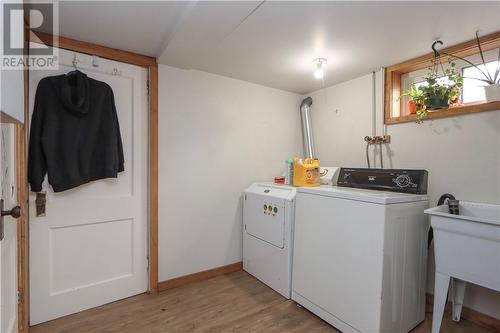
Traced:
[[449, 214], [447, 205], [425, 213], [434, 230], [432, 333], [438, 333], [450, 280], [455, 321], [460, 320], [467, 282], [500, 291], [500, 205], [460, 202], [460, 215]]

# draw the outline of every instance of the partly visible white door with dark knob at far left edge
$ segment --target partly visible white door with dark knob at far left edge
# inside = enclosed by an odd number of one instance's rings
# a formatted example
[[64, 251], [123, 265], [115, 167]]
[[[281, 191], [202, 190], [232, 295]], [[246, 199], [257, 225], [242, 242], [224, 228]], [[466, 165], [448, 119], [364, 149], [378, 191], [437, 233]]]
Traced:
[[[0, 124], [0, 199], [4, 210], [16, 206], [14, 125]], [[4, 217], [0, 241], [0, 332], [17, 332], [17, 223]]]

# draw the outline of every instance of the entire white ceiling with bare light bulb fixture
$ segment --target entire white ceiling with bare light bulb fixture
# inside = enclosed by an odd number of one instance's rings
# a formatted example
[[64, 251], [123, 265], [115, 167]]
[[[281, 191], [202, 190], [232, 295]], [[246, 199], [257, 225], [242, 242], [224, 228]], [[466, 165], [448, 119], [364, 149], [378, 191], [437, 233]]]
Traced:
[[500, 2], [61, 1], [60, 34], [305, 94], [500, 30]]

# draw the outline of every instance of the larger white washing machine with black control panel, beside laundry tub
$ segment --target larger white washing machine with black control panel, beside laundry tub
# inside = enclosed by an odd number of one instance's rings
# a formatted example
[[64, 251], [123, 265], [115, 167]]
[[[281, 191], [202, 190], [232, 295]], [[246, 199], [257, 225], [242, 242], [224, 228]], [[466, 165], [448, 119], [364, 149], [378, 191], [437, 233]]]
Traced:
[[[367, 187], [380, 179], [387, 189], [397, 179], [418, 192], [408, 174], [382, 174], [345, 179]], [[292, 299], [343, 332], [409, 332], [425, 319], [427, 207], [426, 195], [299, 188]]]

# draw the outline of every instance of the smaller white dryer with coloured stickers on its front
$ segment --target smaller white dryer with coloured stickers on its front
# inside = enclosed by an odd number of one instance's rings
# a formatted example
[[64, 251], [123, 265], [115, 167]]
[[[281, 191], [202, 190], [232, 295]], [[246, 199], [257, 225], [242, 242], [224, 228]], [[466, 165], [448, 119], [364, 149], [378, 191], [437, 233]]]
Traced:
[[256, 183], [243, 198], [243, 269], [286, 298], [291, 295], [296, 191]]

